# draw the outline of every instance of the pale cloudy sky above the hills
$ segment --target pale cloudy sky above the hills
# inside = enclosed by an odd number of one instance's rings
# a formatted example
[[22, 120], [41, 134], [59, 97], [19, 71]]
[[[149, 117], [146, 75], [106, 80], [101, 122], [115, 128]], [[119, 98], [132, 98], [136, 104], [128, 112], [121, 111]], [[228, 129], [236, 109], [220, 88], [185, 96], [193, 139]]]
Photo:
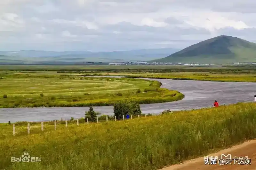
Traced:
[[185, 48], [256, 42], [255, 0], [1, 0], [0, 51]]

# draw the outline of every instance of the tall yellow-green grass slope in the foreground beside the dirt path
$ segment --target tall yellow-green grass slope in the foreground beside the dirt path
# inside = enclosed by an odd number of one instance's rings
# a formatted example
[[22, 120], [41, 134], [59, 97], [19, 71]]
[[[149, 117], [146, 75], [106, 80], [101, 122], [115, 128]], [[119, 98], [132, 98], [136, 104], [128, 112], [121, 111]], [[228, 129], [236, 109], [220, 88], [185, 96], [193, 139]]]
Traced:
[[[9, 136], [0, 139], [0, 169], [159, 169], [255, 138], [255, 108], [237, 103]], [[41, 162], [11, 162], [23, 152]]]

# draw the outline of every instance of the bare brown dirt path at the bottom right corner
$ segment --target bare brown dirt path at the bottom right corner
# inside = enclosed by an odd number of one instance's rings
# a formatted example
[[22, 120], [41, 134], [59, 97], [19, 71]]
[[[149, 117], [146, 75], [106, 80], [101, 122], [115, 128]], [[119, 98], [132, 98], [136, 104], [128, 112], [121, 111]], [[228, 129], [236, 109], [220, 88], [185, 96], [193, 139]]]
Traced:
[[[178, 170], [178, 169], [256, 169], [256, 139], [254, 140], [250, 140], [247, 142], [244, 142], [240, 145], [236, 145], [232, 148], [229, 149], [224, 149], [221, 150], [217, 153], [213, 153], [209, 156], [218, 156], [219, 159], [221, 158], [221, 154], [225, 154], [226, 156], [228, 154], [231, 154], [231, 159], [233, 159], [234, 157], [245, 157], [248, 156], [249, 159], [251, 159], [251, 165], [241, 165], [238, 164], [237, 162], [235, 162], [234, 164], [234, 160], [231, 161], [231, 165], [227, 164], [227, 165], [220, 165], [217, 161], [216, 165], [205, 165], [204, 164], [204, 157], [201, 158], [197, 158], [197, 159], [192, 159], [189, 161], [186, 161], [184, 163], [181, 164], [177, 164], [177, 165], [172, 165], [169, 167], [165, 167], [162, 170]], [[228, 160], [228, 159], [226, 159]]]

